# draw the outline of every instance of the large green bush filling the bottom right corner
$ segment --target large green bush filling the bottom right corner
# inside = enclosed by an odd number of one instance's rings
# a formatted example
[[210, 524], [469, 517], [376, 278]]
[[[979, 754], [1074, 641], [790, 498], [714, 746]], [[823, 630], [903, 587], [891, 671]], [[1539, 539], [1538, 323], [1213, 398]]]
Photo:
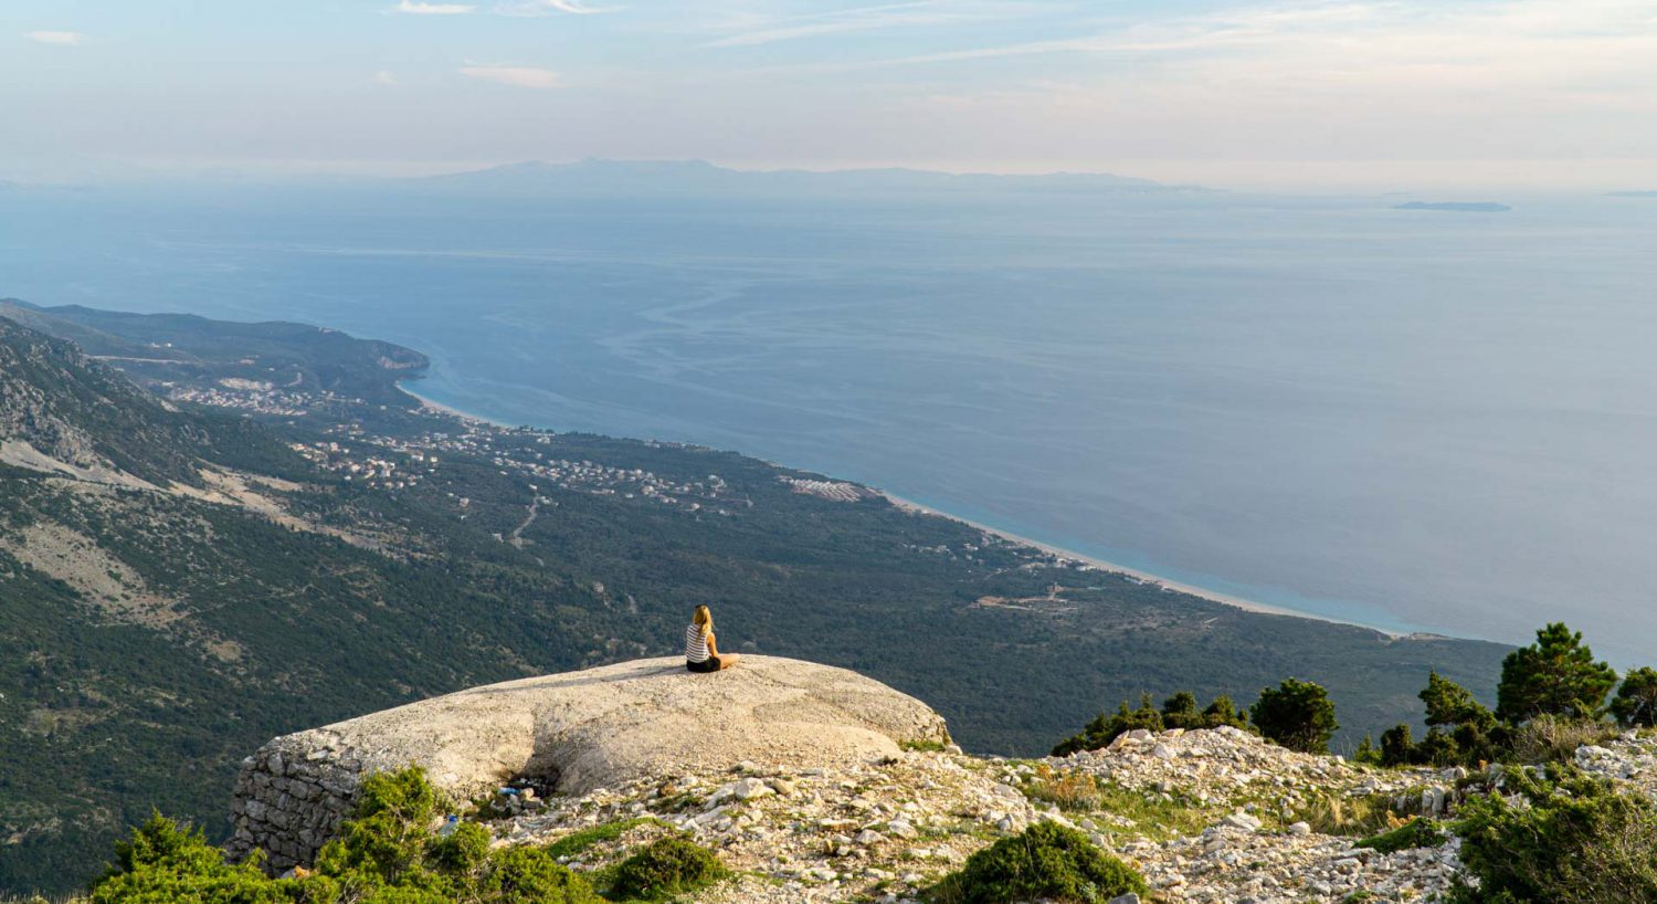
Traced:
[[1506, 773], [1508, 791], [1470, 798], [1455, 823], [1461, 863], [1478, 877], [1461, 904], [1629, 904], [1657, 901], [1657, 806], [1619, 795], [1576, 766]]

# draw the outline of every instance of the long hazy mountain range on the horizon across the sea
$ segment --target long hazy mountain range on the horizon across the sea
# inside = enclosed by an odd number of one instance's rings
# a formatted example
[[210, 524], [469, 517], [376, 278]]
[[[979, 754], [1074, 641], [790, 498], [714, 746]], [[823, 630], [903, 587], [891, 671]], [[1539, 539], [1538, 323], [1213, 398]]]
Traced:
[[451, 191], [545, 194], [838, 194], [838, 192], [1163, 192], [1206, 191], [1107, 173], [1004, 176], [926, 169], [746, 171], [708, 161], [525, 161], [471, 173], [408, 179]]

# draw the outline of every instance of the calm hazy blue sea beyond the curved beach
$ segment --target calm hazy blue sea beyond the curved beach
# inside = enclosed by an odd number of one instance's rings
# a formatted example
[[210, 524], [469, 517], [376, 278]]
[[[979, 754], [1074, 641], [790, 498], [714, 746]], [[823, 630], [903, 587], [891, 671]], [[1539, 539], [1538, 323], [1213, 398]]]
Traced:
[[0, 297], [335, 327], [490, 420], [1657, 662], [1657, 197], [1442, 194], [5, 191]]

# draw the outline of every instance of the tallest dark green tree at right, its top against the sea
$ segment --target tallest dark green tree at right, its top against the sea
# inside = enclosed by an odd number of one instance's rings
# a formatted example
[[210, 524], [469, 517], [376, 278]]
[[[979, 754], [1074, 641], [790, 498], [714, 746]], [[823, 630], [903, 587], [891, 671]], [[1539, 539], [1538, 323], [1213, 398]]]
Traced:
[[1536, 642], [1501, 660], [1496, 717], [1521, 725], [1539, 715], [1596, 718], [1617, 673], [1582, 644], [1564, 622], [1536, 632]]

